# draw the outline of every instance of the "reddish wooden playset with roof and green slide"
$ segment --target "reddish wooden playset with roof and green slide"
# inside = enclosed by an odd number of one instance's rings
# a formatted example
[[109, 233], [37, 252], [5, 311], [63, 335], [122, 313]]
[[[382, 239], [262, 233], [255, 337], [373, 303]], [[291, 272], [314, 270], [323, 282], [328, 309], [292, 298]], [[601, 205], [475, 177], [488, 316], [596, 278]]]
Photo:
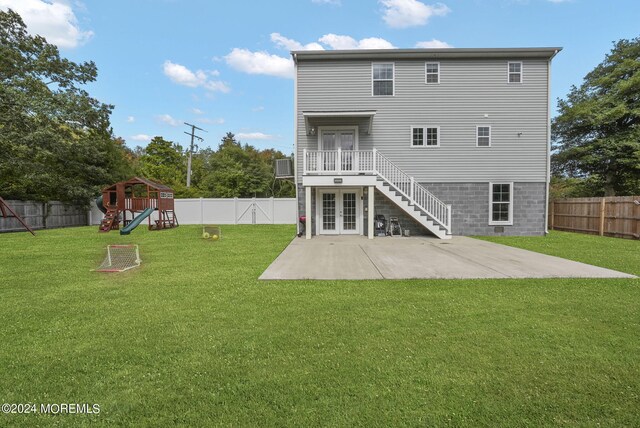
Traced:
[[[120, 234], [128, 235], [145, 219], [149, 221], [149, 230], [178, 226], [173, 190], [144, 178], [134, 177], [103, 189], [96, 205], [104, 213], [100, 232], [118, 230], [122, 223]], [[155, 211], [158, 215], [153, 220]]]

